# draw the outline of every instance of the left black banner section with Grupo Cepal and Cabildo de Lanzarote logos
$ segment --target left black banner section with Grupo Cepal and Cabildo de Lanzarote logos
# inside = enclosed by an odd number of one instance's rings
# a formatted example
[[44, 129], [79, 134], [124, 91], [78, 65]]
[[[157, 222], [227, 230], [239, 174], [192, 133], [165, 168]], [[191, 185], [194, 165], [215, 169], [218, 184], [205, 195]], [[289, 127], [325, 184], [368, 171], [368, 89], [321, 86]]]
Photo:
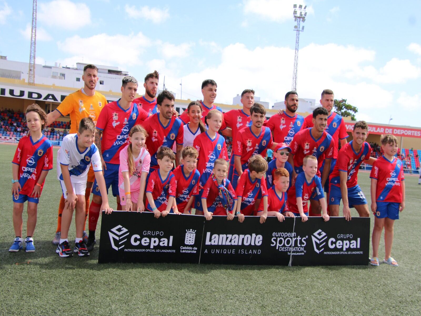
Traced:
[[203, 216], [114, 211], [101, 217], [99, 263], [199, 263]]

